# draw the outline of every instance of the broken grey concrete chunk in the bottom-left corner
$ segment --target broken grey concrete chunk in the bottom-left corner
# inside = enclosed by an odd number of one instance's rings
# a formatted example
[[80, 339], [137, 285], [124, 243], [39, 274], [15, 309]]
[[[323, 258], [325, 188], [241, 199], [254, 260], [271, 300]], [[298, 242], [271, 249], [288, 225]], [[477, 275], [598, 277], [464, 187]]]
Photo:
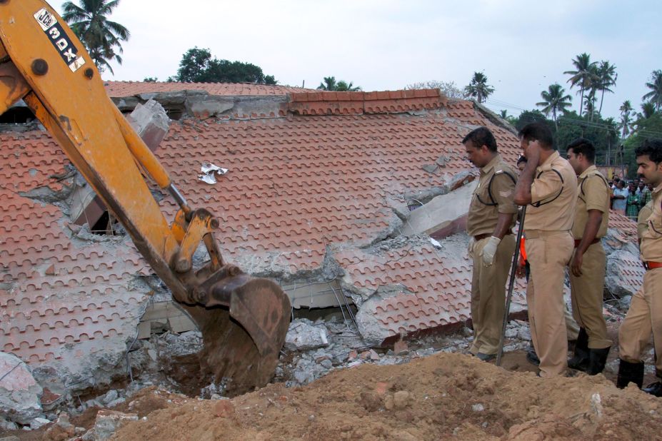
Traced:
[[0, 372], [0, 417], [21, 425], [42, 417], [43, 390], [30, 367], [15, 355], [0, 353]]

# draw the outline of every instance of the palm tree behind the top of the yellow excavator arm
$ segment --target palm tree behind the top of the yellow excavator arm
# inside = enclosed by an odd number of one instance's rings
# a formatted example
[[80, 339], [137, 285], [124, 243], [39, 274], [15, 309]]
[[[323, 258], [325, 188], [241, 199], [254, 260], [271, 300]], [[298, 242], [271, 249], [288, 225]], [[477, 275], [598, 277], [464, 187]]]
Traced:
[[129, 30], [108, 16], [119, 5], [119, 0], [80, 0], [81, 6], [72, 1], [62, 5], [62, 19], [83, 42], [100, 71], [113, 69], [109, 62], [122, 64], [122, 41], [129, 40]]

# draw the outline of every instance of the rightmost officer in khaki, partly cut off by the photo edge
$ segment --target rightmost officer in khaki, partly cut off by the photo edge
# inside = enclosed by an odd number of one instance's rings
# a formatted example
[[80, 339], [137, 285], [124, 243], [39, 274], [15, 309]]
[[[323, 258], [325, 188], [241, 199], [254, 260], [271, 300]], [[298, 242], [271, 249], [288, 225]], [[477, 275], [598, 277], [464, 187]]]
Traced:
[[[630, 309], [618, 330], [618, 387], [634, 382], [643, 384], [641, 353], [653, 334], [656, 376], [662, 380], [662, 139], [644, 141], [635, 156], [640, 176], [653, 184], [652, 211], [640, 213], [646, 225], [639, 228], [641, 260], [646, 266], [643, 287], [632, 296]], [[649, 385], [644, 391], [662, 396], [662, 382]]]

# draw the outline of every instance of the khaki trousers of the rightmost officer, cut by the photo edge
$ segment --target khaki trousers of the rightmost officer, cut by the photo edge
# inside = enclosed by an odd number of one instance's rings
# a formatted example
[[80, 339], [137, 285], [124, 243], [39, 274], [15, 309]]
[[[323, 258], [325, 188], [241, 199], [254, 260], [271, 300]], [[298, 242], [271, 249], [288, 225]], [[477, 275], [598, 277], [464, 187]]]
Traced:
[[662, 268], [646, 271], [643, 288], [632, 296], [630, 309], [618, 330], [618, 353], [623, 360], [639, 363], [644, 348], [655, 346], [655, 368], [662, 377]]

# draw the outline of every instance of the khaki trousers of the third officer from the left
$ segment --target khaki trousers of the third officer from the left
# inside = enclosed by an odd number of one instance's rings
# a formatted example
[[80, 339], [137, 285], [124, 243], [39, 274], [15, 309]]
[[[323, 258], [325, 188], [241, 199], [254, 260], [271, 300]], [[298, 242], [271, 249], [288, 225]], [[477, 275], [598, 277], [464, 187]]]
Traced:
[[588, 348], [611, 346], [607, 338], [607, 323], [602, 315], [606, 257], [602, 243], [593, 243], [583, 255], [580, 277], [570, 271], [572, 315], [588, 334]]

